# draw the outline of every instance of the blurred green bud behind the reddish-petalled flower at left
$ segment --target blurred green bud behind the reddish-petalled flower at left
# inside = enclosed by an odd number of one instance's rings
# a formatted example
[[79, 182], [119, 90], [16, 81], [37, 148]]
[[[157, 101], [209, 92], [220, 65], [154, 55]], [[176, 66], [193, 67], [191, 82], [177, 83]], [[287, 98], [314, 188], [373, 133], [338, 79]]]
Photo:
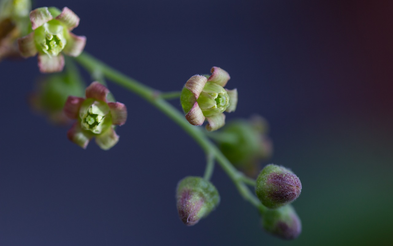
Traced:
[[74, 74], [53, 74], [37, 83], [29, 102], [34, 111], [48, 117], [50, 122], [66, 125], [71, 122], [63, 111], [68, 96], [83, 96], [83, 92], [84, 84]]

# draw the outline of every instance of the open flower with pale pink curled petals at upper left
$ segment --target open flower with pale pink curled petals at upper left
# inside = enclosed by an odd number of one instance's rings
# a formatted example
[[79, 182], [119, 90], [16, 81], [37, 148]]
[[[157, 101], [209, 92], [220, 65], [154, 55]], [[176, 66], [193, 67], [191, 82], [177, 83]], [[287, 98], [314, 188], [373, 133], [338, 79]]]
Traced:
[[30, 12], [31, 28], [34, 30], [18, 39], [19, 52], [24, 57], [38, 53], [40, 72], [60, 72], [64, 56], [78, 56], [86, 44], [86, 37], [70, 31], [79, 25], [79, 17], [68, 7], [60, 12], [55, 7], [41, 7]]

